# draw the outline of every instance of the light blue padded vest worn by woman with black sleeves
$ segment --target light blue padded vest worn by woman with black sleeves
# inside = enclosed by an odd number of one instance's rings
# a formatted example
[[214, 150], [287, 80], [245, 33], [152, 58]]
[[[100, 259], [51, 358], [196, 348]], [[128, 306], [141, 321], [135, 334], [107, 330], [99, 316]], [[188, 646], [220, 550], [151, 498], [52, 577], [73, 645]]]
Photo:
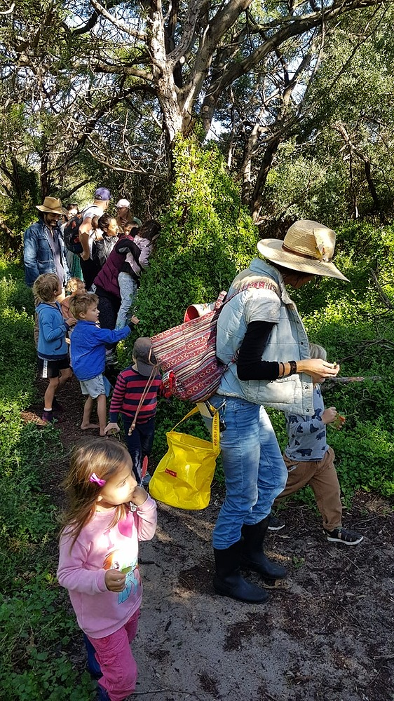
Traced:
[[[270, 284], [269, 287], [243, 289], [248, 283], [258, 282], [271, 283], [275, 289], [270, 289]], [[304, 325], [287, 294], [282, 275], [266, 261], [255, 258], [249, 268], [233, 280], [229, 296], [231, 294], [235, 296], [224, 305], [217, 322], [217, 357], [229, 364], [217, 393], [280, 411], [312, 416], [313, 383], [310, 375], [295, 374], [275, 381], [242, 381], [238, 379], [236, 362], [232, 362], [247, 325], [257, 320], [273, 322], [261, 360], [287, 362], [310, 357]]]

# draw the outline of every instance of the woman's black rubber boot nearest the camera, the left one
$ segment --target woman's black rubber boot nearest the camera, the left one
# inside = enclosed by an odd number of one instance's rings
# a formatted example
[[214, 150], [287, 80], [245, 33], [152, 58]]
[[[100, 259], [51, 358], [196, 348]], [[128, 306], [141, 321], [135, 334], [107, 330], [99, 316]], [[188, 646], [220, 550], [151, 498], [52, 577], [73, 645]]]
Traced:
[[240, 540], [225, 550], [214, 547], [216, 573], [213, 588], [222, 597], [246, 601], [248, 604], [264, 604], [269, 599], [268, 592], [240, 576], [241, 548]]

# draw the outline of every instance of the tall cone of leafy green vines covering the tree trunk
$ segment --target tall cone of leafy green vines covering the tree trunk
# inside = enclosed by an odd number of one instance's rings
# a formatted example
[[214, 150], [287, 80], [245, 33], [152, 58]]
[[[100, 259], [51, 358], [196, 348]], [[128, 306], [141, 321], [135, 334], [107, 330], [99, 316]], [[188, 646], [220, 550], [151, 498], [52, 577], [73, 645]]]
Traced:
[[215, 145], [179, 139], [175, 182], [154, 256], [137, 299], [138, 334], [183, 320], [189, 304], [216, 299], [257, 255], [257, 228]]

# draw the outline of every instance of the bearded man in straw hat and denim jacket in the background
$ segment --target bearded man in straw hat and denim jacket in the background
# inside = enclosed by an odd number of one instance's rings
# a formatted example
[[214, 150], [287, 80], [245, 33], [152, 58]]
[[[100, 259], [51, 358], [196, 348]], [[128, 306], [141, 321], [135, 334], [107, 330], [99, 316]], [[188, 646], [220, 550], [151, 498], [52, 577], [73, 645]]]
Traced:
[[26, 284], [32, 287], [42, 273], [56, 273], [60, 287], [64, 287], [69, 279], [69, 268], [59, 220], [67, 215], [67, 210], [55, 197], [46, 197], [36, 208], [40, 212], [39, 221], [29, 226], [23, 236]]

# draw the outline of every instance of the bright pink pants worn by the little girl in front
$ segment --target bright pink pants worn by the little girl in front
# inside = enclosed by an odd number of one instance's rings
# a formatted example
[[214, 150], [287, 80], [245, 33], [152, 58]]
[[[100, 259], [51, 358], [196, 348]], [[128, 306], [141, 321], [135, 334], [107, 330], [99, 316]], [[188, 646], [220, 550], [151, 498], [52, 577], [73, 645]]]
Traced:
[[111, 701], [123, 701], [135, 690], [137, 662], [130, 643], [135, 639], [140, 609], [115, 633], [104, 638], [90, 638], [102, 671], [99, 684], [107, 690]]

